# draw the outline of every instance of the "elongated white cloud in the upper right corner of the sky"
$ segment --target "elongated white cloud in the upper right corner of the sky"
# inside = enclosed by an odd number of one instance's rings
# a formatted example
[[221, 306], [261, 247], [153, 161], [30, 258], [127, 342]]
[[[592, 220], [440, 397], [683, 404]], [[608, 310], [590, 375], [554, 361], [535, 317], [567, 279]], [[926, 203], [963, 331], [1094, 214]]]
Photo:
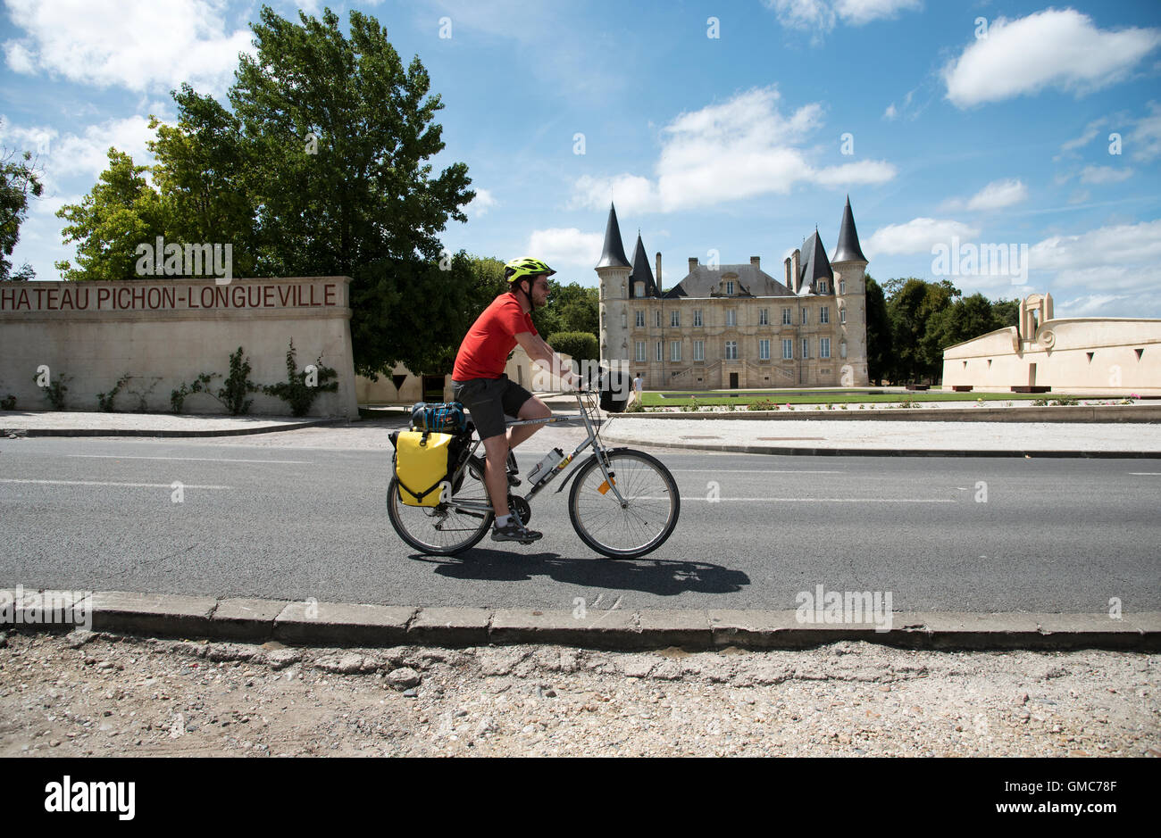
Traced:
[[1125, 78], [1158, 45], [1161, 29], [1097, 29], [1074, 9], [997, 17], [943, 70], [947, 99], [959, 108], [1057, 87], [1076, 94]]

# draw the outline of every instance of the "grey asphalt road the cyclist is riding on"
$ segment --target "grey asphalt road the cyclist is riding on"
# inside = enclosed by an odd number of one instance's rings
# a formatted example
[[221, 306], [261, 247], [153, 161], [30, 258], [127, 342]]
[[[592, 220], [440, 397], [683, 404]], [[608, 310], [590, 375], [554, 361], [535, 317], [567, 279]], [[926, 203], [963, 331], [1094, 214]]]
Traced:
[[[655, 449], [682, 518], [650, 556], [594, 555], [565, 490], [533, 504], [535, 546], [485, 539], [438, 558], [391, 529], [382, 434], [0, 440], [0, 587], [789, 609], [822, 585], [890, 592], [896, 611], [1099, 613], [1110, 598], [1125, 613], [1161, 611], [1161, 460]], [[519, 449], [521, 465], [577, 434], [546, 429]]]

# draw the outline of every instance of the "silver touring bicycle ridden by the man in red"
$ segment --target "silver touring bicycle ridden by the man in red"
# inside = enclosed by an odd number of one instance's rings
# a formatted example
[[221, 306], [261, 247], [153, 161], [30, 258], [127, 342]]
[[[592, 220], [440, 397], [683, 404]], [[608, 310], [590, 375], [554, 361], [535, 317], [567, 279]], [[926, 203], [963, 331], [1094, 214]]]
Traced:
[[[539, 479], [527, 498], [510, 491], [509, 508], [527, 526], [532, 518], [529, 501], [560, 478], [578, 454], [592, 446], [593, 454], [571, 470], [555, 493], [560, 494], [569, 481], [574, 481], [569, 519], [580, 540], [608, 558], [637, 558], [669, 539], [677, 526], [682, 499], [673, 475], [659, 460], [644, 451], [605, 446], [600, 440], [598, 396], [592, 390], [576, 392], [587, 438]], [[507, 421], [505, 426], [551, 425], [577, 418], [570, 414]], [[446, 501], [432, 507], [404, 505], [399, 500], [398, 478], [394, 475], [387, 489], [391, 526], [408, 544], [425, 554], [454, 556], [463, 552], [488, 534], [495, 519], [484, 485], [484, 457], [476, 456], [482, 441], [471, 422], [460, 434], [459, 442], [459, 454], [449, 470], [450, 497]], [[509, 474], [513, 470], [514, 460], [509, 451]]]

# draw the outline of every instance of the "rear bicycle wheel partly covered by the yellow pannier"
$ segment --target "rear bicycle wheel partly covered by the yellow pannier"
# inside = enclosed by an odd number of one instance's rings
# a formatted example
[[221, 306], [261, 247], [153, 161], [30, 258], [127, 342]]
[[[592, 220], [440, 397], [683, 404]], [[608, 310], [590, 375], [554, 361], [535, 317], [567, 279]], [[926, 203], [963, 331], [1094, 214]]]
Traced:
[[[470, 470], [464, 467], [466, 472]], [[470, 471], [456, 481], [454, 500], [488, 503], [488, 489]], [[387, 487], [387, 514], [399, 537], [420, 552], [433, 556], [454, 556], [475, 547], [492, 525], [493, 514], [457, 510], [452, 504], [439, 506], [408, 506], [399, 500], [396, 477]]]

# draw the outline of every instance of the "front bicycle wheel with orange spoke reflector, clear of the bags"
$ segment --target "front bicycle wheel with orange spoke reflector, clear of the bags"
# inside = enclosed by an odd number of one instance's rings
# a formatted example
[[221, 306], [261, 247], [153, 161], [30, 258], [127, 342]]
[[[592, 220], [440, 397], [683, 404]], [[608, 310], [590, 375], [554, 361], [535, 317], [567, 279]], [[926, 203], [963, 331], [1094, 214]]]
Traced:
[[[605, 463], [625, 504], [607, 485], [594, 454], [572, 482], [569, 518], [580, 540], [610, 558], [636, 558], [656, 550], [677, 526], [682, 498], [659, 460], [629, 449], [605, 453]], [[604, 490], [604, 491], [601, 491]]]

